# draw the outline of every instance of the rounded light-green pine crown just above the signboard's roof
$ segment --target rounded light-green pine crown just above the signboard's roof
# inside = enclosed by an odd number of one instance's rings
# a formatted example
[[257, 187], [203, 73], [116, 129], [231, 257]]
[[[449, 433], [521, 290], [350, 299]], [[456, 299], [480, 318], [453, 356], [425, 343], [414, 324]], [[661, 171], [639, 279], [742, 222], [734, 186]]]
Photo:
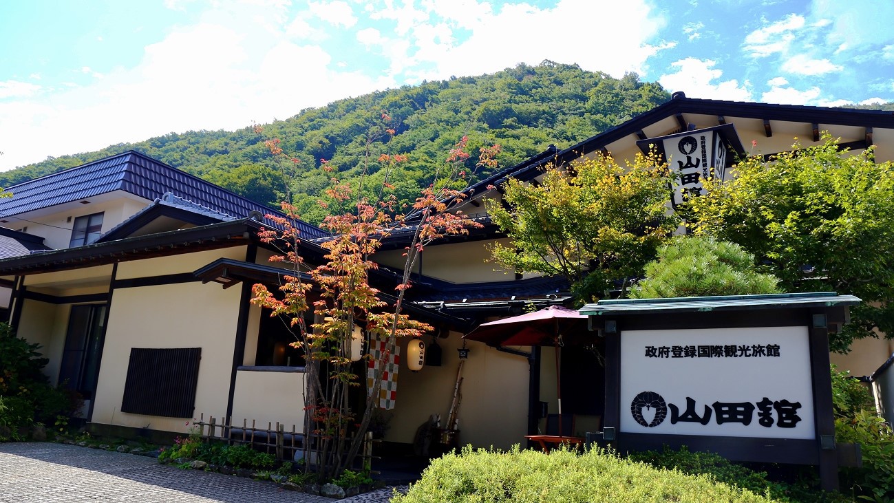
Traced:
[[676, 236], [645, 265], [632, 298], [701, 297], [780, 293], [779, 280], [757, 272], [755, 256], [711, 237]]

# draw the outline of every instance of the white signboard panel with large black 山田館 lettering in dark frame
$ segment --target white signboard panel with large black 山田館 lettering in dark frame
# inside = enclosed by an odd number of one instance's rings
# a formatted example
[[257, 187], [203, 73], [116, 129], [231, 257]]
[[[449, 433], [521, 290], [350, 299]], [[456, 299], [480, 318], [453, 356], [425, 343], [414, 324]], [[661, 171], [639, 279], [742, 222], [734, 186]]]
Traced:
[[814, 439], [807, 327], [622, 331], [620, 431]]

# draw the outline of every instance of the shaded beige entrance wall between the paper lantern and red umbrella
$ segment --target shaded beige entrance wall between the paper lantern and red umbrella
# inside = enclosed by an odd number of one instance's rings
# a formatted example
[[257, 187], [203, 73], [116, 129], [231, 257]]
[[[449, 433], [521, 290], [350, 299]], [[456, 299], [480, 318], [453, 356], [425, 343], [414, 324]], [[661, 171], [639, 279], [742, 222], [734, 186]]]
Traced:
[[[426, 337], [426, 343], [430, 340]], [[401, 341], [401, 356], [407, 354], [407, 342]], [[438, 344], [443, 349], [442, 366], [426, 366], [412, 373], [405, 362], [401, 364], [397, 406], [385, 440], [412, 443], [417, 427], [432, 414], [440, 414], [441, 426], [446, 426], [460, 363], [457, 348], [462, 341], [460, 334], [451, 332]], [[461, 388], [460, 443], [500, 449], [522, 443], [527, 431], [527, 359], [478, 342], [469, 342], [468, 348], [471, 352], [463, 367]]]

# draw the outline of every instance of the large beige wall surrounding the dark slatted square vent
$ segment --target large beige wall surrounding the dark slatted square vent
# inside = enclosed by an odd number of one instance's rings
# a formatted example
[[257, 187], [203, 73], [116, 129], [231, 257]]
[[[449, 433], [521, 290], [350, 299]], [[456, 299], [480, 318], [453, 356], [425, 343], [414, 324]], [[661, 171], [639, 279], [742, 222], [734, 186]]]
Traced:
[[121, 412], [131, 348], [202, 348], [194, 415], [223, 415], [230, 389], [240, 290], [201, 282], [115, 289], [92, 421], [186, 431], [182, 418]]

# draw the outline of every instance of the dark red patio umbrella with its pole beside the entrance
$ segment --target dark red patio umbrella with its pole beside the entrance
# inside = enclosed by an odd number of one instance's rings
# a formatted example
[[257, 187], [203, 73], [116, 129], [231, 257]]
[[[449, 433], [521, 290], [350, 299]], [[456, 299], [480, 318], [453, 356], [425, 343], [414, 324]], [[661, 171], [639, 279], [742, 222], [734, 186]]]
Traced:
[[561, 432], [560, 348], [567, 338], [578, 339], [586, 331], [586, 316], [562, 306], [549, 306], [534, 313], [519, 314], [495, 322], [482, 323], [463, 336], [489, 346], [553, 346], [556, 355], [556, 398], [559, 401]]

